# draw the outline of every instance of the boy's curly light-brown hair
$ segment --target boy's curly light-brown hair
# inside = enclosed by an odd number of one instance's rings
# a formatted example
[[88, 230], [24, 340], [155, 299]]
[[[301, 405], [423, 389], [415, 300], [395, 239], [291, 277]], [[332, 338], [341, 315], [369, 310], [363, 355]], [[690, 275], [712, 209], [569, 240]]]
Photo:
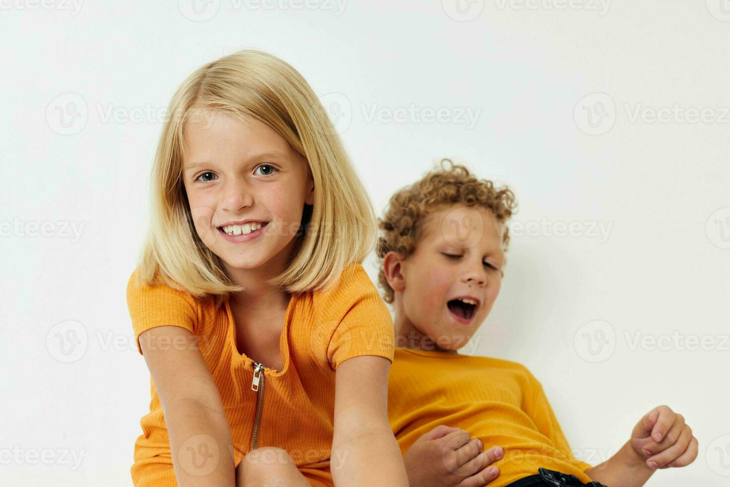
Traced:
[[423, 237], [429, 215], [435, 212], [452, 204], [487, 208], [504, 226], [504, 250], [507, 250], [510, 243], [509, 229], [504, 223], [507, 223], [517, 208], [515, 195], [510, 188], [495, 188], [491, 181], [477, 179], [466, 166], [454, 164], [447, 158], [442, 159], [439, 165], [441, 169], [429, 172], [412, 185], [393, 194], [385, 209], [385, 218], [377, 219], [382, 233], [377, 245], [377, 257], [380, 260], [377, 278], [378, 284], [385, 291], [385, 302], [393, 302], [393, 288], [383, 272], [385, 254], [394, 250], [403, 258], [410, 256]]

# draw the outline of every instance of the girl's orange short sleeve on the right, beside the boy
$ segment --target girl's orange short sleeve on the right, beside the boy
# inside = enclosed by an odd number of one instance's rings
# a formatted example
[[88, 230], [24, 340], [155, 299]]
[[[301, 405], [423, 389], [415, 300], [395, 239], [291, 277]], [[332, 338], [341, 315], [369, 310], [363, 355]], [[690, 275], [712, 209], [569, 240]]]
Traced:
[[361, 264], [350, 264], [327, 296], [334, 326], [327, 345], [327, 361], [337, 370], [347, 358], [374, 355], [393, 363], [395, 330], [391, 312]]

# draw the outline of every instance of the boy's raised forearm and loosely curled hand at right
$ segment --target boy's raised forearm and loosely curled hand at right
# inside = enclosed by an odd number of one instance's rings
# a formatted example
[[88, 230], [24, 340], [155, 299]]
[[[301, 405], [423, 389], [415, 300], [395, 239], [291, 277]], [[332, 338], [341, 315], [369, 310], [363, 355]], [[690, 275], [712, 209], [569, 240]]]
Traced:
[[691, 464], [697, 450], [697, 439], [683, 415], [659, 406], [634, 426], [631, 440], [618, 453], [585, 474], [607, 486], [640, 487], [656, 469]]

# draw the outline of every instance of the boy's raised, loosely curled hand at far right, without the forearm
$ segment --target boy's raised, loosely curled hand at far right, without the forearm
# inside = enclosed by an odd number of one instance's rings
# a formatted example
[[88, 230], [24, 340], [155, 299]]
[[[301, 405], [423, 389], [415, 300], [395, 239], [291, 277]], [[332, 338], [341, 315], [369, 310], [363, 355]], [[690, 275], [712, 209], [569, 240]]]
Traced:
[[631, 448], [639, 463], [650, 469], [686, 467], [697, 458], [697, 439], [683, 415], [659, 406], [645, 415], [631, 432]]

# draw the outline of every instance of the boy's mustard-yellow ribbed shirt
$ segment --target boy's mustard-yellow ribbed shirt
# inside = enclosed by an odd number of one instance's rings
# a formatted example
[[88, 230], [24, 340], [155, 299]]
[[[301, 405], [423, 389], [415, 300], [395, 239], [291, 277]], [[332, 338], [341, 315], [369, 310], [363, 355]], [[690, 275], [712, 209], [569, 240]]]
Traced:
[[591, 479], [572, 456], [539, 381], [523, 365], [496, 358], [396, 348], [388, 380], [388, 420], [401, 452], [439, 424], [504, 448], [494, 465], [504, 487], [538, 467]]

